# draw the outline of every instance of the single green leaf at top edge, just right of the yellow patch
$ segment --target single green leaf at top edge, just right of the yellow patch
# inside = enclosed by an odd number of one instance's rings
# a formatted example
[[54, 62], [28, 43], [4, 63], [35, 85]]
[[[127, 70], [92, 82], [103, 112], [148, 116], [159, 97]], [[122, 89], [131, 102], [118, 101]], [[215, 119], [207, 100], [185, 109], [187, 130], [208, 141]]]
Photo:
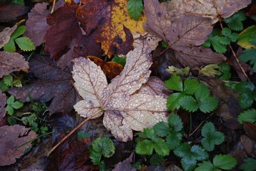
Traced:
[[134, 20], [139, 20], [143, 11], [142, 0], [129, 0], [127, 2], [127, 11]]

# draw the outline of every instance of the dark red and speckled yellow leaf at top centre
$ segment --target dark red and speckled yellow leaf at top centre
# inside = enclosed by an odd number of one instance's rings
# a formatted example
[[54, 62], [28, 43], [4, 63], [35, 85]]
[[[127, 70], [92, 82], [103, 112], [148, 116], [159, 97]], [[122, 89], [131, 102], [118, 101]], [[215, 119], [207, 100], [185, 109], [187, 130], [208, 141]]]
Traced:
[[[145, 33], [143, 22], [132, 20], [127, 13], [127, 1], [82, 1], [83, 6], [77, 9], [77, 19], [81, 23], [86, 34], [97, 31], [95, 40], [101, 43], [104, 52], [110, 57], [113, 54], [126, 54], [131, 50], [132, 41], [127, 40], [125, 27], [131, 33]], [[121, 49], [122, 47], [127, 47]]]

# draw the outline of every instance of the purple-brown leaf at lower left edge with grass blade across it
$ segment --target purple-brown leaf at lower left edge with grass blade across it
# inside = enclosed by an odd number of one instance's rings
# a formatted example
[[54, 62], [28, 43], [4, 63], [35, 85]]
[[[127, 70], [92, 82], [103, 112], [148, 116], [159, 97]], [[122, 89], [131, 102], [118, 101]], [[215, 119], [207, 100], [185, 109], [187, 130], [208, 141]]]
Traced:
[[[16, 158], [24, 154], [31, 143], [22, 145], [36, 137], [36, 133], [28, 128], [15, 124], [0, 128], [0, 166], [15, 163]], [[22, 145], [21, 147], [19, 147]]]

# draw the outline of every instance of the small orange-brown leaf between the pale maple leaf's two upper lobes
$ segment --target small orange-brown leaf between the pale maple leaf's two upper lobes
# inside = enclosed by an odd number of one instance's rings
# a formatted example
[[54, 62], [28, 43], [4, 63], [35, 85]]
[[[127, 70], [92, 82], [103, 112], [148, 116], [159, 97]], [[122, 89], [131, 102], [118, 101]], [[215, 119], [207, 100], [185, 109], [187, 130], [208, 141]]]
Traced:
[[109, 79], [115, 78], [117, 75], [119, 75], [122, 72], [124, 68], [121, 64], [118, 64], [112, 61], [104, 62], [99, 57], [88, 56], [87, 58], [93, 61], [98, 66], [100, 66], [101, 70]]

